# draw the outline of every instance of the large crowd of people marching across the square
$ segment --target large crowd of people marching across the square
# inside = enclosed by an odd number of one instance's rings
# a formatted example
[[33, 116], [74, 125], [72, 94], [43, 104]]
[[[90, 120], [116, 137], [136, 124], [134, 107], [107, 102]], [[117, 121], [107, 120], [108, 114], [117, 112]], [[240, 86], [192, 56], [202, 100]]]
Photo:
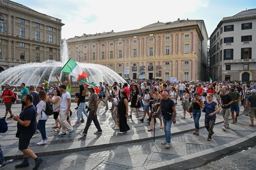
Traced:
[[[55, 125], [53, 129], [58, 133], [57, 137], [71, 137], [75, 131], [75, 127], [81, 126], [85, 122], [86, 125], [83, 132], [79, 135], [87, 136], [87, 131], [91, 122], [94, 122], [97, 131], [95, 135], [102, 134], [102, 128], [98, 121], [97, 110], [100, 102], [103, 103], [105, 110], [111, 112], [113, 118], [113, 129], [119, 131], [119, 134], [127, 133], [130, 126], [127, 119], [138, 118], [139, 122], [150, 125], [147, 131], [153, 131], [154, 123], [157, 119], [160, 121], [160, 129], [165, 131], [165, 141], [162, 145], [166, 148], [171, 146], [171, 125], [176, 123], [176, 105], [177, 101], [181, 101], [183, 116], [189, 114], [195, 122], [194, 135], [199, 135], [199, 119], [201, 112], [205, 112], [205, 129], [208, 130], [207, 140], [212, 140], [214, 135], [214, 124], [216, 114], [223, 115], [223, 131], [229, 128], [229, 114], [231, 112], [232, 124], [238, 122], [241, 104], [244, 107], [244, 113], [250, 117], [251, 124], [254, 126], [254, 118], [256, 116], [256, 83], [240, 84], [240, 82], [169, 82], [156, 80], [130, 80], [124, 84], [114, 82], [109, 89], [109, 84], [98, 82], [98, 94], [93, 85], [83, 84], [79, 81], [79, 92], [75, 95], [75, 103], [77, 103], [77, 118], [74, 124], [70, 122], [72, 112], [71, 107], [71, 84], [69, 75], [66, 75], [66, 81], [52, 84], [48, 88], [47, 78], [44, 79], [42, 89], [35, 91], [34, 86], [26, 88], [25, 83], [20, 84], [20, 99], [22, 100], [22, 108], [20, 115], [12, 114], [12, 102], [10, 99], [14, 97], [14, 93], [10, 90], [10, 86], [5, 84], [5, 90], [1, 97], [5, 103], [4, 119], [10, 114], [9, 118], [13, 118], [18, 122], [16, 137], [19, 138], [19, 150], [23, 152], [24, 159], [16, 168], [29, 166], [28, 158], [35, 160], [35, 169], [42, 163], [42, 158], [36, 156], [29, 149], [29, 141], [33, 133], [39, 131], [42, 141], [38, 146], [47, 143], [48, 136], [46, 134], [46, 121], [49, 117], [46, 113], [46, 103], [53, 104], [53, 118]], [[44, 87], [43, 87], [44, 86]], [[88, 95], [88, 103], [86, 102]], [[130, 103], [130, 109], [129, 104]], [[109, 106], [111, 105], [111, 106]], [[110, 108], [110, 109], [109, 109]], [[134, 112], [135, 109], [135, 112]], [[140, 115], [142, 111], [143, 114]], [[235, 114], [236, 112], [236, 114]], [[134, 113], [134, 114], [133, 114]], [[1, 153], [1, 150], [0, 150]], [[0, 159], [1, 160], [1, 159]], [[0, 165], [4, 165], [4, 159]]]

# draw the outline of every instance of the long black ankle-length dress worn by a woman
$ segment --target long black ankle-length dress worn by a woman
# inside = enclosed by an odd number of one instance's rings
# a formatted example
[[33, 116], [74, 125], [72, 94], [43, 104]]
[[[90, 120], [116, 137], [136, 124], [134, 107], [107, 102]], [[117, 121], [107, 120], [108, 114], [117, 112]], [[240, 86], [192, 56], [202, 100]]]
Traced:
[[[119, 131], [126, 132], [130, 130], [130, 127], [127, 124], [126, 118], [126, 105], [124, 104], [124, 99], [127, 97], [123, 97], [118, 103], [118, 113], [119, 113]], [[127, 99], [128, 100], [128, 99]]]

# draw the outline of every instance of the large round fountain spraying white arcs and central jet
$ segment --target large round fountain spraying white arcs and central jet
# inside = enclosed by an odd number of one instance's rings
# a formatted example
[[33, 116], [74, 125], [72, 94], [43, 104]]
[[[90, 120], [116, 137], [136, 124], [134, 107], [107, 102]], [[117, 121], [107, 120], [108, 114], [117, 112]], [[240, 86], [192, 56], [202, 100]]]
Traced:
[[[48, 60], [44, 61], [43, 63], [27, 63], [12, 67], [1, 72], [1, 86], [4, 84], [20, 86], [20, 83], [24, 82], [26, 86], [33, 85], [38, 87], [44, 82], [44, 78], [48, 78], [49, 84], [56, 83], [56, 76], [58, 76], [61, 82], [63, 82], [66, 78], [65, 74], [61, 72], [61, 68], [67, 61], [68, 48], [66, 39], [64, 39], [61, 46], [61, 62]], [[109, 85], [113, 84], [113, 82], [120, 82], [122, 84], [126, 82], [120, 75], [115, 73], [115, 71], [103, 65], [91, 63], [79, 63], [79, 65], [88, 75], [88, 78], [84, 80], [86, 82], [106, 82]], [[76, 78], [72, 76], [70, 77], [70, 82], [72, 85], [77, 85]]]

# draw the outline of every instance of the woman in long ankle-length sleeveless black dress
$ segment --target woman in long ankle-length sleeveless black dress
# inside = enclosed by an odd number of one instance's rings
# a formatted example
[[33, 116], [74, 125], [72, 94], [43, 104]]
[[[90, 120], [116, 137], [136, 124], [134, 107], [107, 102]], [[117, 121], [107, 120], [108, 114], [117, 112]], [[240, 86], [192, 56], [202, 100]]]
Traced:
[[127, 124], [128, 117], [128, 98], [126, 92], [121, 92], [121, 100], [118, 103], [118, 115], [119, 116], [119, 134], [126, 133], [130, 130], [130, 127]]

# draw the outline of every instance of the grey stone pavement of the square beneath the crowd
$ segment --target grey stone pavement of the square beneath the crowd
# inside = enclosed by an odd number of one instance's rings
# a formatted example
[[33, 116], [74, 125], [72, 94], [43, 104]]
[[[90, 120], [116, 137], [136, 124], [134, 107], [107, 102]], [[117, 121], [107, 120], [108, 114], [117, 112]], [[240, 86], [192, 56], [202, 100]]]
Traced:
[[[3, 115], [4, 105], [0, 107], [0, 115]], [[13, 105], [14, 112], [18, 112], [20, 107], [21, 105]], [[72, 110], [74, 107], [75, 105], [72, 104]], [[221, 150], [229, 146], [236, 146], [237, 143], [256, 136], [255, 128], [248, 126], [249, 118], [244, 114], [238, 118], [237, 124], [230, 124], [227, 131], [221, 130], [223, 118], [218, 114], [212, 141], [206, 140], [208, 132], [203, 127], [202, 114], [200, 135], [193, 135], [193, 119], [189, 118], [189, 114], [186, 119], [180, 118], [183, 116], [183, 110], [179, 101], [177, 124], [172, 126], [171, 148], [166, 149], [165, 146], [160, 145], [165, 138], [164, 132], [159, 129], [159, 120], [156, 123], [156, 139], [153, 141], [154, 133], [147, 132], [149, 126], [145, 122], [139, 122], [138, 118], [128, 119], [131, 130], [124, 135], [119, 135], [117, 131], [111, 129], [113, 125], [111, 114], [104, 110], [102, 104], [98, 114], [103, 134], [94, 135], [96, 128], [92, 124], [86, 138], [78, 135], [85, 125], [76, 129], [74, 137], [57, 138], [57, 134], [51, 129], [53, 118], [50, 118], [46, 124], [47, 135], [50, 137], [48, 144], [36, 146], [36, 142], [40, 141], [40, 134], [35, 134], [31, 139], [32, 150], [44, 159], [40, 169], [190, 169], [218, 158], [218, 156], [208, 158], [208, 154], [222, 152]], [[142, 116], [142, 112], [139, 114]], [[76, 121], [75, 114], [71, 121], [73, 124]], [[14, 165], [21, 161], [17, 158], [21, 158], [22, 154], [17, 149], [18, 140], [14, 137], [16, 122], [14, 120], [7, 120], [7, 122], [9, 130], [8, 133], [3, 134], [1, 148], [7, 160], [14, 158], [14, 161], [5, 165], [3, 169], [14, 169]], [[236, 141], [238, 142], [235, 143]], [[254, 143], [251, 143], [251, 146], [253, 145]], [[231, 150], [235, 149], [231, 148]], [[241, 147], [240, 150], [242, 150]], [[188, 162], [188, 160], [191, 161]], [[29, 159], [29, 163], [30, 167], [25, 169], [32, 169], [33, 160]]]

